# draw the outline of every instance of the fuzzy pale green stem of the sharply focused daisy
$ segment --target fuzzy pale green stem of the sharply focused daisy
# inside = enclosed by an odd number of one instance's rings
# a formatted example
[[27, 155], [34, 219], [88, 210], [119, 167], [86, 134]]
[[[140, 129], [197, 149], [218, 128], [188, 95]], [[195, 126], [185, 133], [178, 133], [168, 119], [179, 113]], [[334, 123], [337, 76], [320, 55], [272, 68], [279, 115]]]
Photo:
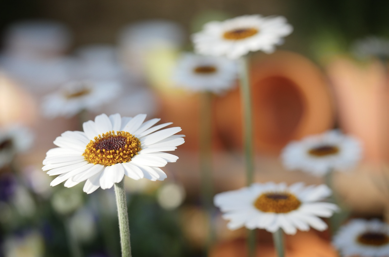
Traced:
[[131, 257], [130, 227], [128, 225], [128, 211], [126, 191], [124, 190], [124, 178], [121, 182], [115, 183], [114, 187], [116, 195], [117, 217], [119, 218], [122, 257]]

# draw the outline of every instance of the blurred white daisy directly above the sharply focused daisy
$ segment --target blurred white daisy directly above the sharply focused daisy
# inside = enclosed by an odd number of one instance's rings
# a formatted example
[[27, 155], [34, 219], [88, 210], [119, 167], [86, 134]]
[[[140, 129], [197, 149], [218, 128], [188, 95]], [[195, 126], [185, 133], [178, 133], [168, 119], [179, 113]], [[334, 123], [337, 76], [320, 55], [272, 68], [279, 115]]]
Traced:
[[121, 85], [115, 81], [72, 81], [43, 100], [42, 112], [46, 117], [72, 117], [88, 110], [94, 111], [109, 104], [120, 94]]

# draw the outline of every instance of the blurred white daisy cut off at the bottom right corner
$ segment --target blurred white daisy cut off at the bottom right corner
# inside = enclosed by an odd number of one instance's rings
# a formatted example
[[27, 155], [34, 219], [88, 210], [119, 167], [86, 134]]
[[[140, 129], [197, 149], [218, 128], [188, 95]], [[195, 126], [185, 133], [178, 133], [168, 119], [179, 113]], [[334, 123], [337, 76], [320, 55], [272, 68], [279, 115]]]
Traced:
[[380, 220], [354, 219], [340, 227], [333, 245], [344, 257], [389, 256], [389, 225]]

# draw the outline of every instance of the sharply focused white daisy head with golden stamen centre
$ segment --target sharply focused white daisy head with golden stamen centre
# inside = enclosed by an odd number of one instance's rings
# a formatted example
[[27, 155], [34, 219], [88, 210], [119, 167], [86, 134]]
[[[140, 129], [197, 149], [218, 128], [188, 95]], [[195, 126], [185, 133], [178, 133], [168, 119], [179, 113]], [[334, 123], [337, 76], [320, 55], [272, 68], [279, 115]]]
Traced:
[[83, 132], [62, 133], [54, 141], [58, 148], [49, 150], [43, 161], [47, 174], [60, 175], [50, 185], [66, 180], [65, 187], [73, 187], [86, 180], [84, 192], [90, 194], [99, 187], [111, 188], [124, 175], [164, 180], [166, 174], [159, 167], [178, 157], [163, 151], [174, 151], [184, 143], [184, 135], [175, 135], [180, 127], [159, 130], [171, 122], [152, 127], [160, 119], [144, 122], [145, 118], [146, 114], [133, 118], [101, 114], [84, 122]]

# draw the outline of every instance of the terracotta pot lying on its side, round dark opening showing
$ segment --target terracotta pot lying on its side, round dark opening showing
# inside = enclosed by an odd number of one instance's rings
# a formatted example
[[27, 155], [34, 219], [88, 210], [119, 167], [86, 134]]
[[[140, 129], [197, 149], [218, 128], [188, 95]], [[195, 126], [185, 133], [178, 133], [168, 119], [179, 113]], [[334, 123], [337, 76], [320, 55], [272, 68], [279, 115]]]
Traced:
[[[314, 63], [296, 53], [278, 51], [251, 62], [256, 150], [278, 154], [292, 139], [333, 127], [334, 107], [326, 80]], [[216, 120], [227, 147], [242, 146], [238, 88], [216, 103]]]

